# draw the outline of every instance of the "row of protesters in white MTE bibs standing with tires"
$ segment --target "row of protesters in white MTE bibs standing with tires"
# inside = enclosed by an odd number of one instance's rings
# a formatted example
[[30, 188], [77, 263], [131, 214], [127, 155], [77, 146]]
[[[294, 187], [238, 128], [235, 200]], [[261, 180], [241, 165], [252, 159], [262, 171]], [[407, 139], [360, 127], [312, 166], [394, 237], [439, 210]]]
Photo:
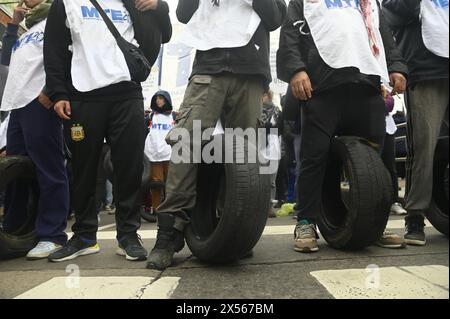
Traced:
[[[386, 231], [378, 244], [425, 245], [433, 155], [441, 125], [448, 123], [448, 9], [442, 0], [291, 0], [288, 6], [285, 0], [178, 0], [177, 18], [186, 24], [182, 41], [197, 50], [189, 85], [177, 114], [170, 94], [160, 91], [143, 120], [142, 87], [121, 44], [139, 46], [154, 63], [172, 35], [167, 3], [24, 0], [3, 37], [1, 62], [9, 65], [9, 75], [1, 111], [10, 112], [6, 156], [29, 156], [37, 171], [39, 244], [27, 257], [59, 262], [99, 252], [96, 178], [106, 145], [114, 168], [107, 197], [112, 188], [117, 254], [147, 260], [150, 269], [169, 267], [185, 245], [198, 172], [194, 162], [170, 161], [173, 128], [192, 133], [198, 120], [202, 130], [219, 120], [226, 128], [267, 129], [266, 155], [279, 161], [271, 179], [275, 208], [287, 197], [296, 203], [294, 249], [317, 252], [334, 136], [369, 140], [398, 194], [390, 113], [393, 96], [403, 93], [407, 196], [405, 210], [398, 196], [393, 210], [407, 214], [406, 231]], [[28, 31], [19, 37], [24, 20]], [[270, 32], [280, 27], [277, 72], [289, 84], [282, 110], [269, 90]], [[64, 144], [70, 150], [70, 191]], [[144, 156], [151, 162], [152, 185], [151, 199], [144, 195], [145, 211], [158, 222], [150, 254], [137, 234]], [[105, 181], [100, 184], [105, 187]], [[14, 231], [23, 220], [27, 187], [21, 182], [8, 187], [4, 231]], [[74, 236], [67, 240], [71, 210]]]

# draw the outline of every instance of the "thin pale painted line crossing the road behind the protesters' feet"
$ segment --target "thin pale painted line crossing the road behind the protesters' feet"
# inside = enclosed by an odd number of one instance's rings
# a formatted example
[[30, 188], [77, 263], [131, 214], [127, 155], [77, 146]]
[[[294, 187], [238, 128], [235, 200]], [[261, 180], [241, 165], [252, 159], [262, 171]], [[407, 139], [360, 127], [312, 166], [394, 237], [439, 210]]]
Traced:
[[[428, 221], [425, 221], [426, 227], [432, 227], [431, 224]], [[108, 228], [112, 227], [110, 225], [107, 225]], [[387, 228], [388, 229], [401, 229], [403, 230], [405, 227], [405, 222], [403, 220], [391, 220], [388, 222]], [[274, 235], [293, 235], [294, 234], [294, 225], [287, 225], [287, 226], [266, 226], [264, 229], [263, 236], [274, 236]], [[156, 239], [156, 230], [140, 230], [139, 235], [142, 237], [142, 239]], [[68, 233], [69, 237], [72, 237], [72, 233]], [[98, 240], [111, 240], [116, 239], [116, 232], [115, 231], [99, 231], [97, 233], [97, 239]]]

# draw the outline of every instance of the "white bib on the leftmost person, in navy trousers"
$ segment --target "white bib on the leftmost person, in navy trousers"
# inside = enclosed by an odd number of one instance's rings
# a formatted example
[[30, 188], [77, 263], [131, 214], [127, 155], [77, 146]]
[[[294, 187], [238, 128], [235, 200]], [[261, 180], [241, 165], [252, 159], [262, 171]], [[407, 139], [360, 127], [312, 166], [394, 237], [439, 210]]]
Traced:
[[36, 99], [45, 86], [44, 31], [47, 20], [23, 34], [13, 48], [2, 111], [23, 108]]

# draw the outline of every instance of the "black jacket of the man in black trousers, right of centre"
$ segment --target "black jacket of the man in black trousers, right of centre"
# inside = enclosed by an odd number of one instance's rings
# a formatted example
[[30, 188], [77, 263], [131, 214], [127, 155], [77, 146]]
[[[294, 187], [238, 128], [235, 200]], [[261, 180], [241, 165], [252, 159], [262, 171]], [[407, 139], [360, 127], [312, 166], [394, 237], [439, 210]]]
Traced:
[[[305, 22], [305, 27], [302, 30], [307, 35], [300, 33], [298, 25], [294, 26], [294, 23], [298, 21]], [[395, 46], [391, 30], [384, 21], [382, 14], [380, 15], [380, 32], [386, 51], [389, 72], [407, 75], [406, 63]], [[343, 52], [343, 54], [345, 53]], [[303, 0], [291, 0], [288, 17], [281, 29], [280, 49], [277, 53], [278, 78], [289, 83], [292, 77], [300, 71], [308, 73], [315, 93], [350, 82], [366, 83], [373, 86], [377, 91], [380, 90], [381, 79], [379, 76], [361, 74], [357, 68], [333, 69], [323, 61], [304, 17]]]

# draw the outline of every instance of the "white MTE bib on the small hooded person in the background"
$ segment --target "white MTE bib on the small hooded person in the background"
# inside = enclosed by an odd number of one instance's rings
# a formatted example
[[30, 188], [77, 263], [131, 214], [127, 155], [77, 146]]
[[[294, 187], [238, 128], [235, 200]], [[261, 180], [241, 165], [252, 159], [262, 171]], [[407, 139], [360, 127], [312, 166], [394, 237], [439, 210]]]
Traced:
[[150, 162], [170, 161], [172, 148], [166, 143], [166, 136], [173, 127], [172, 114], [154, 113], [150, 133], [145, 140], [145, 155]]

